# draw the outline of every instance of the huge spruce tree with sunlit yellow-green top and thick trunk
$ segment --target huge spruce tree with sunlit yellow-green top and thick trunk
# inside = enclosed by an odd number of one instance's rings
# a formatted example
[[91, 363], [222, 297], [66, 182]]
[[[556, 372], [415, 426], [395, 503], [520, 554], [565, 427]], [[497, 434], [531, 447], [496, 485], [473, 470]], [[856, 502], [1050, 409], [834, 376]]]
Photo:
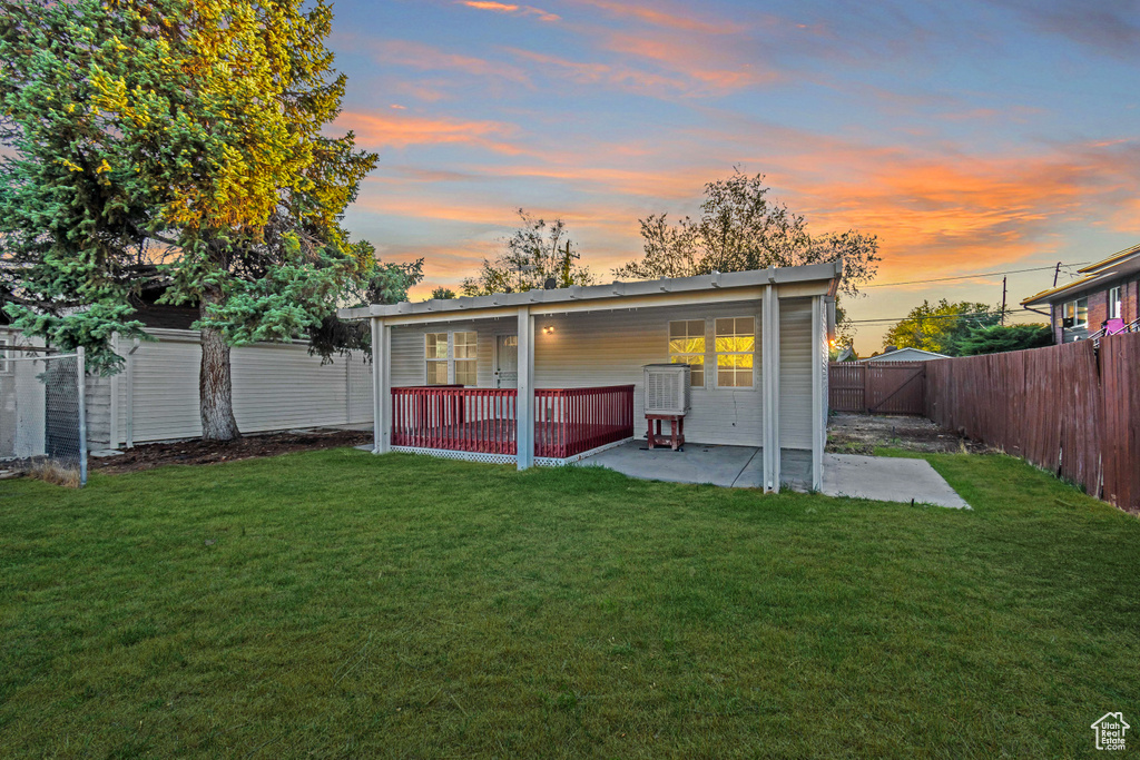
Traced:
[[331, 24], [324, 0], [0, 0], [13, 324], [113, 371], [157, 278], [199, 309], [203, 436], [237, 436], [230, 346], [319, 329], [377, 283], [341, 228], [376, 156], [328, 136]]

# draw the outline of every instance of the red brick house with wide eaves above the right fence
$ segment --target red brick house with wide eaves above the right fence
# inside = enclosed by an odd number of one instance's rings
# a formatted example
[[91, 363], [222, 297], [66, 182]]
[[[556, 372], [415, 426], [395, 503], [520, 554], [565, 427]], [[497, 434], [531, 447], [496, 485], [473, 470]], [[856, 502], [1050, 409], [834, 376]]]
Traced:
[[1140, 330], [1140, 245], [1077, 273], [1076, 280], [1021, 302], [1031, 310], [1049, 309], [1042, 313], [1049, 314], [1057, 343]]

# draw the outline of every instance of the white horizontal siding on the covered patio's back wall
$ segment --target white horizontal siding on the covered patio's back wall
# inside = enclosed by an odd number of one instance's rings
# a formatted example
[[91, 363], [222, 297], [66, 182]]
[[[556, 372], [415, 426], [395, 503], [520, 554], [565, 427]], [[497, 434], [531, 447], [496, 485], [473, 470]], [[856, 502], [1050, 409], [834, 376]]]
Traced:
[[[807, 340], [811, 341], [811, 302]], [[714, 321], [717, 317], [754, 317], [757, 350], [751, 389], [714, 390]], [[692, 409], [685, 417], [685, 438], [700, 443], [758, 446], [762, 441], [763, 409], [760, 393], [760, 304], [758, 301], [677, 308], [616, 310], [538, 317], [535, 321], [535, 386], [538, 389], [596, 387], [634, 385], [635, 432], [644, 435], [642, 367], [669, 360], [669, 322], [705, 319], [707, 383], [709, 390], [694, 389]], [[431, 327], [409, 326], [392, 329], [392, 385], [422, 385], [425, 377], [424, 334], [427, 332], [477, 332], [480, 387], [494, 387], [496, 334], [514, 334], [518, 322], [511, 319], [467, 322], [438, 322]], [[546, 333], [544, 328], [553, 327]], [[807, 346], [808, 351], [811, 350]], [[808, 384], [811, 373], [808, 371]], [[808, 389], [809, 390], [809, 389]], [[811, 420], [811, 395], [807, 397]], [[804, 433], [811, 446], [811, 432]]]

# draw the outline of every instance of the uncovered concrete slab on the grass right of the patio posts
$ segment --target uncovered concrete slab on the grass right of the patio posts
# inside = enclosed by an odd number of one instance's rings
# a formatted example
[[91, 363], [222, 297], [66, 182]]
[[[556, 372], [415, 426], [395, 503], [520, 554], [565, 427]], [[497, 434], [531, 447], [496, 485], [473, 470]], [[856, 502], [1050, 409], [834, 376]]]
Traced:
[[925, 459], [828, 453], [823, 461], [823, 492], [876, 501], [913, 500], [955, 509], [970, 508]]

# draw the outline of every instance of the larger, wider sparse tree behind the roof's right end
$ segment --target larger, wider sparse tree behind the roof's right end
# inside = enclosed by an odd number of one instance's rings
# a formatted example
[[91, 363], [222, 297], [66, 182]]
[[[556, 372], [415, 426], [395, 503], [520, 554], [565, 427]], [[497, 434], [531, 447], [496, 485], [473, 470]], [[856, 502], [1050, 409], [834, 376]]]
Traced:
[[[768, 197], [764, 175], [736, 170], [705, 186], [699, 219], [641, 220], [644, 255], [614, 269], [618, 277], [657, 279], [842, 261], [840, 293], [854, 297], [878, 272], [879, 240], [858, 230], [813, 236], [807, 220]], [[842, 335], [853, 332], [841, 316]]]

